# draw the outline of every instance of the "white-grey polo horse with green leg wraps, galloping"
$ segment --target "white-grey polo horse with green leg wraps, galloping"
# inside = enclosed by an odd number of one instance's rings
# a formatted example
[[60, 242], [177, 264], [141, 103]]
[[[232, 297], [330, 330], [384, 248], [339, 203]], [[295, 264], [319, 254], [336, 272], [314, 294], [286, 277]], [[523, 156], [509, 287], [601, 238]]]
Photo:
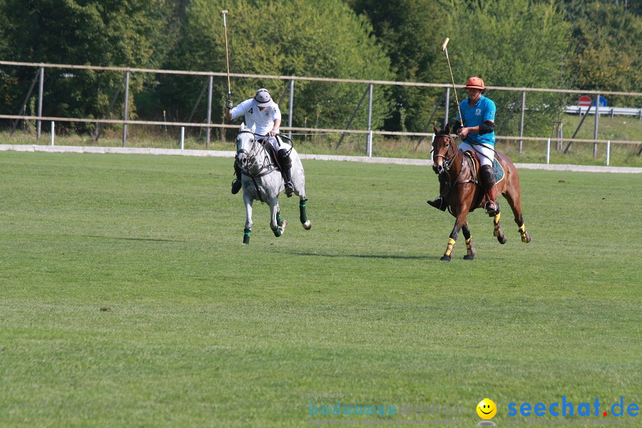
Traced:
[[[270, 228], [276, 237], [285, 232], [286, 220], [281, 219], [279, 208], [279, 193], [283, 190], [284, 182], [280, 170], [272, 161], [266, 148], [267, 143], [260, 143], [256, 139], [254, 131], [256, 127], [248, 128], [241, 123], [236, 137], [235, 162], [243, 171], [241, 183], [243, 184], [243, 201], [245, 203], [245, 230], [243, 230], [243, 243], [250, 243], [250, 231], [252, 230], [252, 204], [254, 200], [270, 205]], [[292, 160], [292, 185], [294, 193], [299, 196], [300, 220], [305, 230], [312, 228], [312, 223], [307, 220], [305, 213], [305, 172], [299, 154], [290, 146], [279, 139], [280, 147], [291, 150]]]

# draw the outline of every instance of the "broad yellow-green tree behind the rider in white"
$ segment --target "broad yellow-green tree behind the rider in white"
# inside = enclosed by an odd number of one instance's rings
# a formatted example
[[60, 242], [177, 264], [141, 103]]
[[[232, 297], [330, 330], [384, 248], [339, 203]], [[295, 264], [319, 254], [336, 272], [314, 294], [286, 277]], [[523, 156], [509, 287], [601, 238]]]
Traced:
[[[228, 9], [228, 43], [233, 73], [277, 76], [316, 76], [389, 80], [389, 59], [370, 36], [372, 28], [340, 0], [211, 1], [193, 0], [180, 31], [180, 39], [168, 57], [167, 68], [225, 72], [225, 40], [221, 9]], [[277, 20], [273, 17], [278, 16]], [[203, 78], [164, 76], [158, 102], [185, 118], [195, 103]], [[232, 79], [233, 101], [267, 88], [279, 101], [286, 82], [274, 79]], [[295, 82], [293, 126], [342, 128], [355, 109], [365, 85], [353, 83]], [[389, 115], [389, 89], [374, 91], [372, 123], [383, 125]], [[215, 79], [215, 105], [223, 116], [226, 78]], [[280, 107], [287, 113], [286, 96]], [[205, 116], [205, 106], [200, 117]], [[283, 121], [287, 123], [284, 114]], [[364, 128], [367, 106], [362, 106], [352, 127]]]

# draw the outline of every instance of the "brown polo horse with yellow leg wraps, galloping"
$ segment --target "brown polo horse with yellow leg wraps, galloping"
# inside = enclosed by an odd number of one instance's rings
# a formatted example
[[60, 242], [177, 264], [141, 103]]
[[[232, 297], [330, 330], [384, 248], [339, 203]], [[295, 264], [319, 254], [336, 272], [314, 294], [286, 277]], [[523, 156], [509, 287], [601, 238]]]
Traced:
[[[434, 173], [439, 174], [439, 181], [442, 183], [440, 194], [447, 200], [450, 213], [456, 218], [452, 233], [448, 239], [446, 252], [441, 260], [450, 261], [452, 259], [452, 251], [457, 236], [461, 229], [466, 238], [467, 255], [464, 259], [473, 260], [475, 248], [472, 243], [470, 230], [466, 216], [469, 212], [476, 208], [484, 207], [485, 192], [481, 188], [477, 180], [477, 171], [479, 171], [479, 161], [475, 156], [469, 156], [462, 153], [457, 149], [457, 143], [450, 135], [450, 127], [446, 126], [445, 129], [439, 130], [436, 126], [434, 128], [434, 141], [432, 142], [432, 169]], [[531, 242], [531, 235], [526, 232], [526, 225], [524, 225], [524, 218], [521, 215], [521, 190], [519, 188], [519, 175], [515, 165], [503, 153], [495, 152], [495, 158], [504, 168], [505, 176], [498, 183], [496, 183], [496, 190], [499, 191], [504, 198], [508, 200], [513, 214], [515, 215], [515, 223], [519, 226], [519, 233], [521, 241], [524, 243]], [[506, 236], [501, 231], [501, 222], [499, 220], [499, 204], [497, 213], [494, 215], [494, 232], [499, 243], [506, 243]]]

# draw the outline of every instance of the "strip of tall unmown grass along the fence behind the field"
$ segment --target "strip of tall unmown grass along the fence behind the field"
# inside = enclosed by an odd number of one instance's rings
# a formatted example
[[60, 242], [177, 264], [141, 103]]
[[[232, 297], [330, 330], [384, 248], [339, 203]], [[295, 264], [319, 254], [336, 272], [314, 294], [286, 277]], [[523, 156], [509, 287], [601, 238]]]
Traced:
[[[576, 115], [562, 116], [563, 136], [571, 138], [576, 131], [581, 118]], [[589, 116], [584, 121], [576, 138], [593, 138], [594, 118]], [[599, 140], [641, 141], [642, 121], [628, 116], [601, 116], [599, 119]], [[17, 132], [9, 136], [7, 132], [0, 132], [0, 143], [4, 144], [49, 144], [51, 134], [44, 133], [40, 141], [34, 138], [34, 127], [29, 132]], [[296, 134], [296, 133], [295, 133]], [[366, 156], [367, 136], [365, 134], [352, 134], [341, 136], [339, 133], [302, 133], [295, 135], [293, 143], [300, 153]], [[310, 134], [310, 135], [307, 135]], [[546, 129], [540, 138], [554, 136], [551, 130]], [[225, 131], [213, 129], [210, 136], [209, 147], [205, 144], [205, 128], [188, 128], [185, 130], [184, 147], [193, 150], [223, 150], [233, 151], [235, 130]], [[94, 141], [88, 134], [77, 135], [73, 132], [63, 131], [56, 135], [55, 143], [59, 146], [106, 146], [121, 147], [123, 145], [123, 131], [117, 126], [106, 128], [98, 141]], [[606, 165], [606, 144], [598, 143], [596, 157], [593, 157], [593, 143], [574, 142], [569, 153], [564, 153], [568, 142], [561, 144], [562, 150], [556, 149], [556, 140], [551, 141], [551, 163], [576, 164], [576, 165]], [[128, 147], [145, 148], [180, 148], [180, 128], [157, 126], [128, 126]], [[521, 153], [516, 141], [498, 141], [497, 148], [504, 151], [515, 162], [546, 163], [546, 142], [529, 141], [524, 139]], [[640, 146], [635, 144], [611, 144], [609, 165], [615, 166], [642, 166], [642, 156], [638, 155]], [[384, 137], [374, 136], [372, 156], [389, 158], [419, 158], [427, 159], [430, 153], [429, 138], [420, 137]]]

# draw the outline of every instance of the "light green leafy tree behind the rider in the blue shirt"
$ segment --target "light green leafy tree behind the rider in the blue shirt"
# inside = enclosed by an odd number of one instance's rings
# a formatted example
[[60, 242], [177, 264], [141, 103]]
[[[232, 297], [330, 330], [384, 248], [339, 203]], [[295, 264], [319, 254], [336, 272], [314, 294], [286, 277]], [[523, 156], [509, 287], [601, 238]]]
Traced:
[[[449, 11], [447, 31], [452, 35], [449, 55], [456, 83], [479, 76], [486, 86], [568, 87], [569, 71], [564, 68], [564, 61], [569, 51], [569, 24], [553, 2], [449, 0], [442, 5]], [[489, 91], [486, 95], [496, 103], [495, 123], [499, 131], [511, 110], [519, 110], [516, 104], [521, 103], [520, 94]], [[527, 93], [529, 112], [524, 133], [539, 135], [543, 127], [550, 128], [550, 121], [558, 118], [566, 98]], [[519, 114], [515, 114], [501, 133], [516, 135], [518, 130]]]

